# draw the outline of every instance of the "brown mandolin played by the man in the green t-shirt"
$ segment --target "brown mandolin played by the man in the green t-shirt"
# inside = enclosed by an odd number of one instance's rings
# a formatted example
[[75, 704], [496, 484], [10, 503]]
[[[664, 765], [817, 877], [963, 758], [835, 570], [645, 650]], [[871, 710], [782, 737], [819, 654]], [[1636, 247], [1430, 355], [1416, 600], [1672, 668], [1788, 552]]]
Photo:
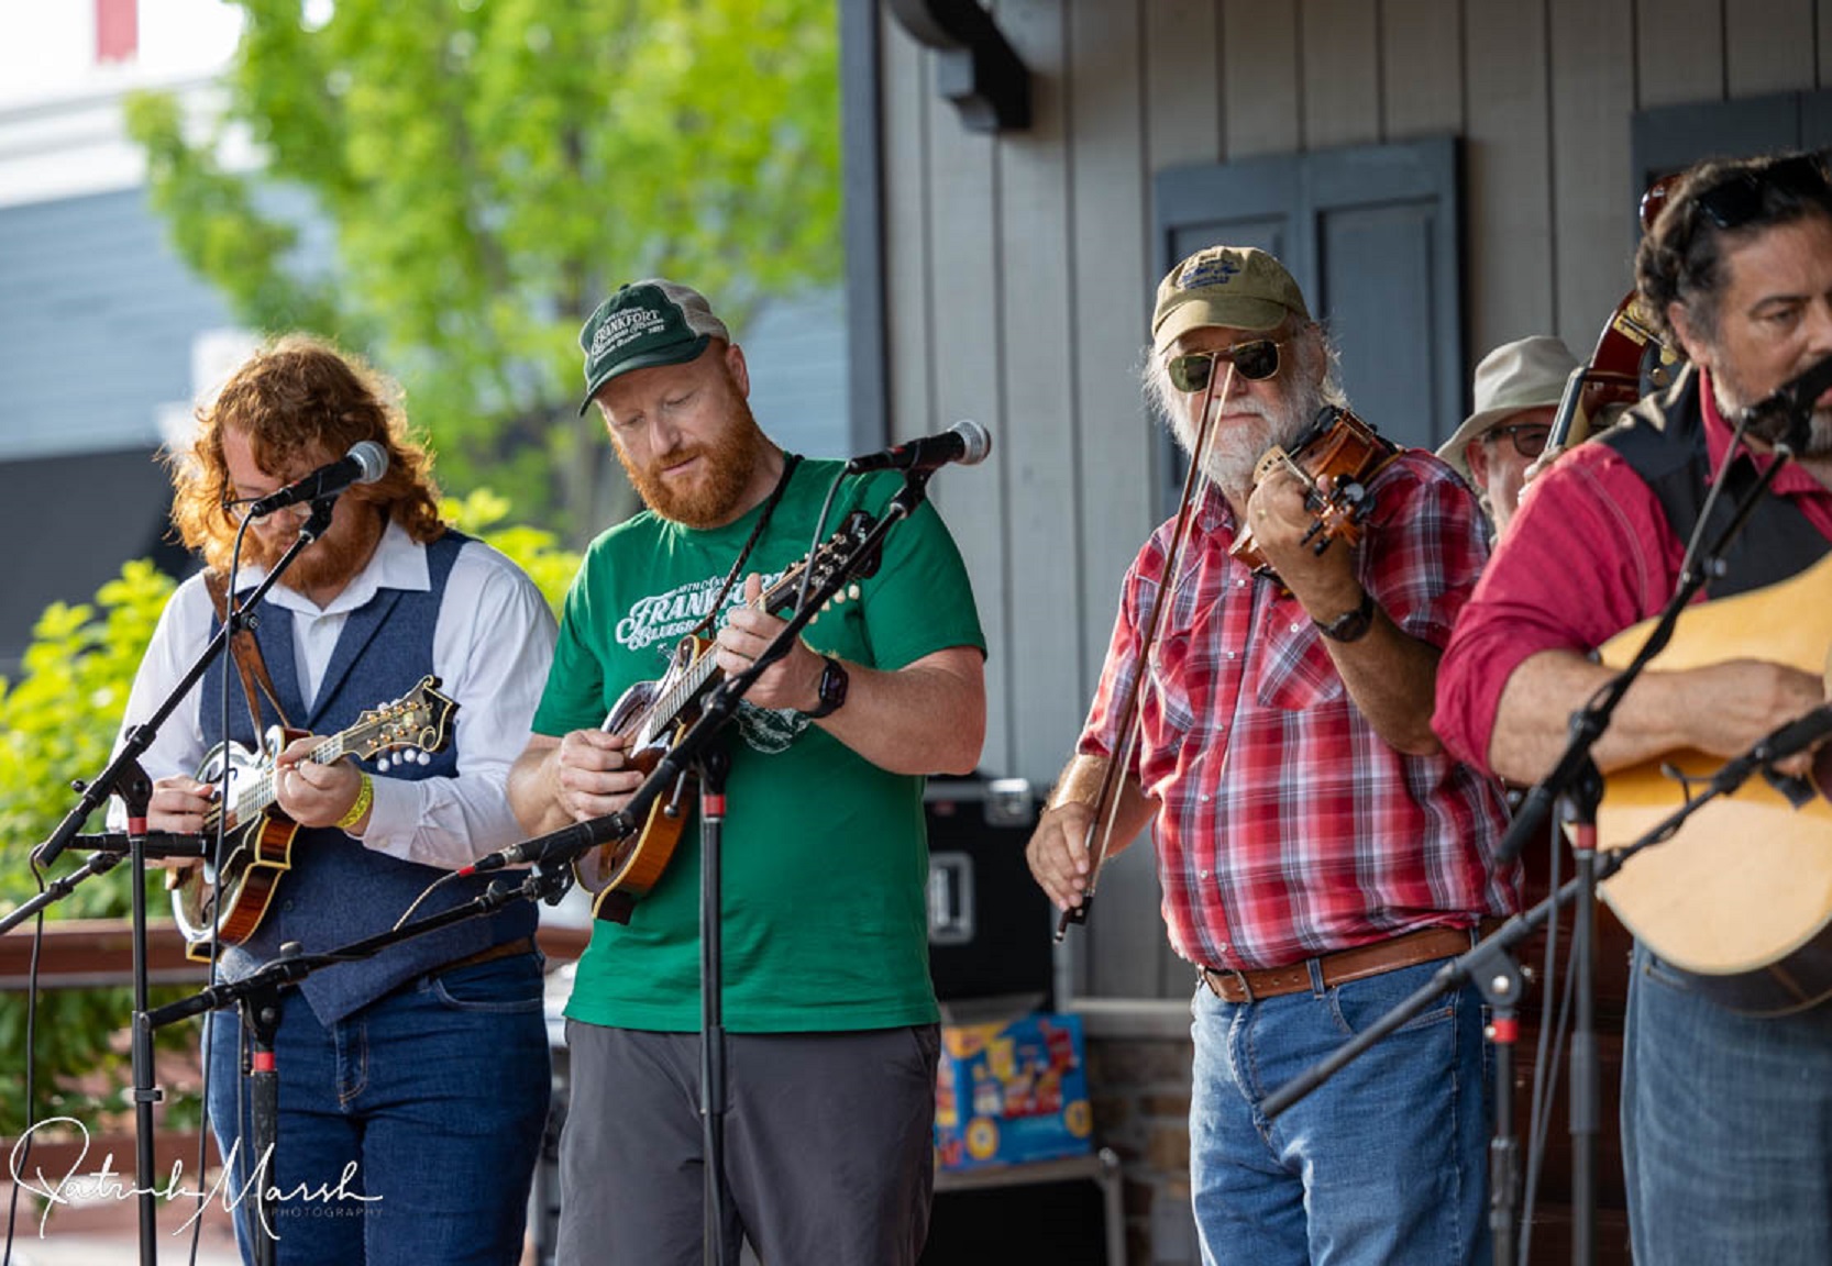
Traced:
[[[782, 579], [757, 595], [751, 606], [764, 612], [793, 608], [802, 577], [808, 577], [810, 588], [826, 584], [835, 568], [859, 550], [870, 529], [872, 517], [863, 509], [852, 511], [826, 542], [791, 564]], [[854, 575], [867, 577], [876, 570], [878, 559], [870, 557]], [[841, 590], [828, 601], [839, 603], [848, 595], [857, 597], [857, 586]], [[702, 700], [724, 680], [713, 641], [689, 634], [674, 647], [674, 658], [661, 680], [638, 682], [627, 689], [599, 729], [628, 735], [630, 746], [625, 757], [647, 777], [700, 720]], [[682, 777], [667, 795], [656, 797], [639, 830], [590, 848], [573, 861], [579, 887], [592, 894], [594, 916], [628, 922], [636, 898], [647, 896], [674, 856], [694, 788], [696, 780], [691, 775]]]

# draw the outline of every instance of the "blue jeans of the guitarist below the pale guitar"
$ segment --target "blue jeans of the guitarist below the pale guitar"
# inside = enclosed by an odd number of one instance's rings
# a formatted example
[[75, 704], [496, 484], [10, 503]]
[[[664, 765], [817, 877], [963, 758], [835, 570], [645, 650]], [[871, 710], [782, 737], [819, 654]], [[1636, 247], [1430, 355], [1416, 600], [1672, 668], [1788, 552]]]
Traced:
[[1832, 1262], [1832, 1004], [1737, 1015], [1636, 944], [1623, 1042], [1634, 1261]]

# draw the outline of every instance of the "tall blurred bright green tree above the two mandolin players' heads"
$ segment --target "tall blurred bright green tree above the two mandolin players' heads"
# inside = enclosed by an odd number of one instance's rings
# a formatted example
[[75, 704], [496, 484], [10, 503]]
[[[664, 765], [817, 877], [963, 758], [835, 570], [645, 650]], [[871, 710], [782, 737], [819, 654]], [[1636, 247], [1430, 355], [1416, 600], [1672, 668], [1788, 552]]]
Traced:
[[[310, 328], [399, 377], [453, 486], [573, 539], [630, 506], [577, 416], [584, 315], [674, 275], [742, 321], [839, 275], [834, 0], [238, 0], [220, 121], [130, 104], [154, 207], [258, 330]], [[262, 170], [222, 154], [253, 143]], [[332, 275], [275, 189], [310, 194]], [[540, 500], [531, 500], [539, 497]]]

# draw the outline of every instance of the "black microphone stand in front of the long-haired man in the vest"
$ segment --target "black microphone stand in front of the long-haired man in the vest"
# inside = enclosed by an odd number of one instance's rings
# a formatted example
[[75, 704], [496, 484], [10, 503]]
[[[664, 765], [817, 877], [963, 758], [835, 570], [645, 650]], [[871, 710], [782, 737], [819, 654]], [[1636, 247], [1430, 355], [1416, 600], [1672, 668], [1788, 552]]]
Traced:
[[[154, 1204], [156, 1189], [152, 1178], [152, 1105], [163, 1094], [152, 1083], [152, 1026], [147, 1022], [147, 804], [152, 799], [152, 779], [147, 777], [139, 759], [152, 746], [152, 740], [159, 735], [159, 726], [172, 715], [180, 700], [191, 693], [191, 687], [203, 678], [211, 663], [229, 647], [229, 639], [240, 628], [253, 628], [253, 617], [247, 612], [275, 586], [299, 551], [324, 535], [332, 524], [333, 502], [333, 497], [319, 497], [311, 502], [311, 517], [299, 529], [293, 544], [288, 546], [278, 562], [262, 577], [245, 603], [229, 603], [229, 614], [216, 630], [216, 636], [211, 638], [202, 654], [198, 654], [178, 683], [172, 685], [170, 693], [152, 711], [152, 716], [126, 731], [121, 749], [108, 760], [108, 766], [92, 782], [79, 780], [71, 784], [81, 793], [81, 799], [64, 815], [64, 821], [57, 824], [57, 830], [33, 850], [33, 861], [40, 867], [49, 867], [77, 837], [90, 813], [101, 808], [110, 795], [119, 795], [126, 801], [128, 857], [134, 870], [130, 885], [134, 923], [134, 1187], [139, 1193], [139, 1261], [145, 1266], [152, 1266], [159, 1257], [158, 1237], [154, 1235], [158, 1207]], [[101, 874], [106, 868], [92, 865], [88, 872]]]

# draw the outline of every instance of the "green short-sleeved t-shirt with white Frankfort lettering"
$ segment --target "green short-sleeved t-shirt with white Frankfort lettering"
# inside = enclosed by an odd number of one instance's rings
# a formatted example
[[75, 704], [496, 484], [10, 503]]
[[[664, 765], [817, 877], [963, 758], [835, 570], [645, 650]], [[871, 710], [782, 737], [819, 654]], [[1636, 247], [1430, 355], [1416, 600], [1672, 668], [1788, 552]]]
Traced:
[[[839, 462], [801, 462], [744, 564], [768, 588], [812, 544]], [[881, 517], [898, 475], [846, 478], [824, 533], [846, 511]], [[658, 680], [707, 612], [762, 507], [692, 529], [650, 511], [586, 550], [566, 595], [535, 731], [595, 729], [634, 683]], [[986, 650], [973, 590], [947, 528], [923, 502], [890, 528], [857, 599], [806, 627], [817, 650], [900, 669], [947, 647]], [[744, 599], [742, 577], [729, 605]], [[731, 773], [722, 832], [724, 1024], [735, 1033], [925, 1024], [929, 984], [923, 779], [887, 773], [795, 711], [740, 704], [725, 729]], [[694, 801], [698, 808], [698, 801]], [[700, 819], [691, 815], [628, 925], [597, 920], [566, 1015], [656, 1031], [700, 1028]]]

